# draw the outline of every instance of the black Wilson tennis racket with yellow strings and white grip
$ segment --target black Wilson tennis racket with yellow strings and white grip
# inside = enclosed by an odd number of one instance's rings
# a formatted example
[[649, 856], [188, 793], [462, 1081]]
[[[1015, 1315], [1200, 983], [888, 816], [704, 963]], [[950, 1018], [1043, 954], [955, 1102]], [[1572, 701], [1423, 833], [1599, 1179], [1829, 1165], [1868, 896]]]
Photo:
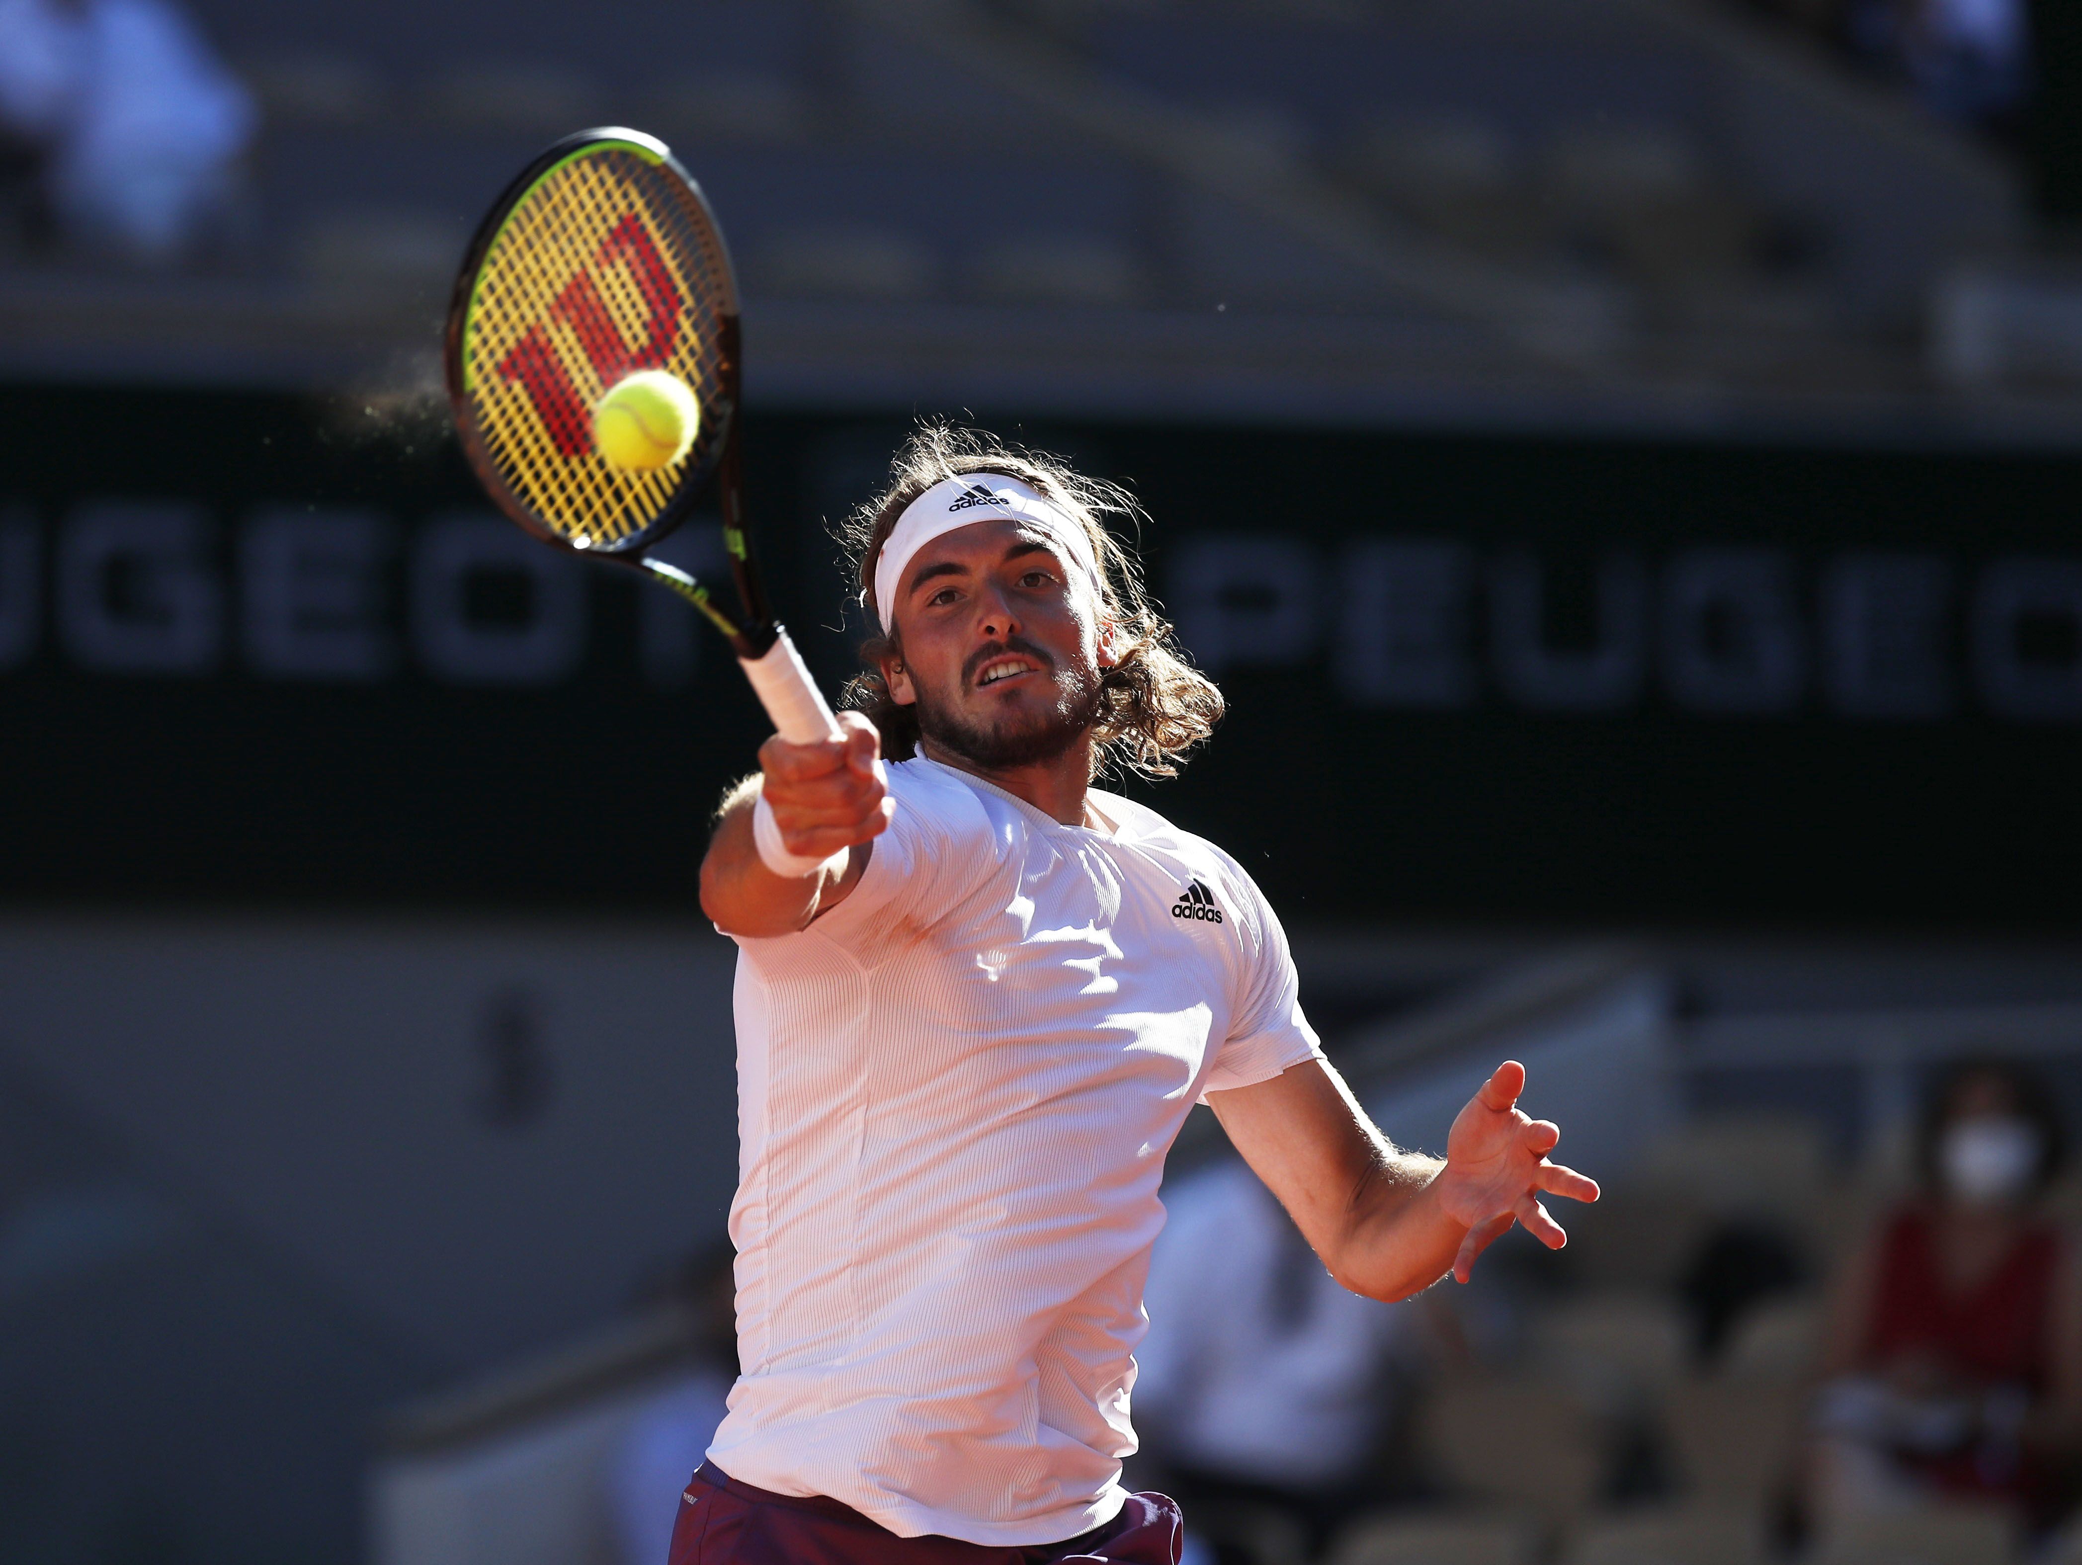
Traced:
[[[579, 131], [520, 171], [462, 258], [446, 366], [462, 450], [506, 516], [693, 604], [729, 637], [783, 739], [839, 733], [745, 537], [737, 279], [716, 214], [664, 142]], [[616, 468], [593, 445], [593, 404], [635, 370], [677, 375], [702, 414], [687, 454], [654, 470]], [[735, 612], [643, 554], [710, 485]]]

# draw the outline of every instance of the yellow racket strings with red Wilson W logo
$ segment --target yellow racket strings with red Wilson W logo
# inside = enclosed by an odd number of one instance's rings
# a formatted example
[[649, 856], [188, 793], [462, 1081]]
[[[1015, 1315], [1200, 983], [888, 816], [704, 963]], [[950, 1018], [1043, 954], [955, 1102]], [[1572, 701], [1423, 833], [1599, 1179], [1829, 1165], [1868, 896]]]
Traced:
[[[691, 194], [623, 150], [573, 158], [508, 214], [471, 298], [464, 387], [500, 479], [562, 537], [639, 537], [712, 458], [729, 416], [727, 277]], [[702, 404], [672, 468], [614, 468], [593, 450], [593, 402], [637, 368], [681, 377]]]

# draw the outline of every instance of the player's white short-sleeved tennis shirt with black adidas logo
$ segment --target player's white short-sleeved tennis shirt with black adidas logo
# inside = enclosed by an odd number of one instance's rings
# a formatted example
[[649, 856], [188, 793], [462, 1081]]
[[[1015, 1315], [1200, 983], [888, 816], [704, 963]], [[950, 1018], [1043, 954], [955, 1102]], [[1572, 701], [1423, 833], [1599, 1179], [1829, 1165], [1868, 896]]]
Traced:
[[743, 1374], [708, 1455], [906, 1538], [1058, 1542], [1124, 1500], [1164, 1153], [1320, 1049], [1212, 843], [929, 760], [889, 789], [854, 893], [739, 941]]

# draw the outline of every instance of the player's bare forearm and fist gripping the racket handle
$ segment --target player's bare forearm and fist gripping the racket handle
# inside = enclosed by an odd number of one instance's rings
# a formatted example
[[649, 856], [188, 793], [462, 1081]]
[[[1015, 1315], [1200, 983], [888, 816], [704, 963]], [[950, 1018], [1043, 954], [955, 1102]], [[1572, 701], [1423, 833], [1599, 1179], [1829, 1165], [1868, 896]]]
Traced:
[[[722, 801], [702, 860], [702, 912], [725, 934], [793, 934], [837, 907], [860, 884], [874, 837], [895, 814], [881, 762], [881, 735], [858, 712], [839, 714], [841, 739], [791, 745], [775, 735], [760, 745], [760, 770]], [[752, 839], [760, 795], [775, 812], [789, 853], [835, 862], [806, 876], [766, 868]]]

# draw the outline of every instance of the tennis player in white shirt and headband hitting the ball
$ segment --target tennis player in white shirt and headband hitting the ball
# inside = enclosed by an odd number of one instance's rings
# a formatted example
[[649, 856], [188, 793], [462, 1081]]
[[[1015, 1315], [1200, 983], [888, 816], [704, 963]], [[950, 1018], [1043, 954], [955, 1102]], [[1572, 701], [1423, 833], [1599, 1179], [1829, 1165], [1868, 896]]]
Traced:
[[1243, 868], [1093, 787], [1168, 776], [1222, 712], [1106, 527], [1133, 502], [968, 431], [893, 474], [854, 518], [864, 712], [768, 739], [702, 866], [739, 945], [743, 1374], [672, 1565], [1170, 1565], [1178, 1509], [1120, 1461], [1193, 1103], [1372, 1299], [1514, 1222], [1559, 1247], [1541, 1195], [1597, 1186], [1547, 1161], [1518, 1063], [1445, 1161], [1395, 1149]]

